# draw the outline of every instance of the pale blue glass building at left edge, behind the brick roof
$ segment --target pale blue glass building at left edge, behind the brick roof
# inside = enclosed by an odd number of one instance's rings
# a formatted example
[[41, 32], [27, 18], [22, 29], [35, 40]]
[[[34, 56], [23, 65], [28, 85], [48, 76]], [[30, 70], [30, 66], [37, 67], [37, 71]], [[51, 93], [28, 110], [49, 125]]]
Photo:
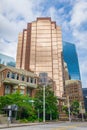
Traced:
[[10, 56], [6, 56], [4, 54], [0, 54], [0, 64], [15, 67], [16, 63], [15, 63], [14, 58]]

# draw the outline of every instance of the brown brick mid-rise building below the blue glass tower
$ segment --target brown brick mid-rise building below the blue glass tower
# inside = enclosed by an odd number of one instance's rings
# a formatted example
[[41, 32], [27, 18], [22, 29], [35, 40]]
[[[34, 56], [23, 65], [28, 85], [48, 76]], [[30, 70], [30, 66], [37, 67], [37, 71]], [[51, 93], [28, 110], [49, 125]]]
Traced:
[[83, 101], [83, 93], [82, 93], [82, 87], [81, 87], [81, 81], [80, 80], [66, 80], [65, 81], [65, 96], [69, 97], [70, 104], [77, 100], [79, 103], [81, 102], [84, 106]]

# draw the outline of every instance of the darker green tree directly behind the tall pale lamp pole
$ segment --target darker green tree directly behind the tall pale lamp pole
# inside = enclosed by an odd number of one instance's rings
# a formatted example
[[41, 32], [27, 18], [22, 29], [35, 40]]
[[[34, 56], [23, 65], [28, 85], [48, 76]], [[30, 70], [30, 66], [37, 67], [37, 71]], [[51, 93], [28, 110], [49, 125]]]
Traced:
[[[43, 117], [43, 86], [38, 86], [37, 93], [35, 95], [35, 109], [40, 114], [40, 118]], [[58, 118], [58, 102], [57, 97], [54, 96], [50, 86], [45, 87], [45, 113], [46, 119], [49, 120]]]

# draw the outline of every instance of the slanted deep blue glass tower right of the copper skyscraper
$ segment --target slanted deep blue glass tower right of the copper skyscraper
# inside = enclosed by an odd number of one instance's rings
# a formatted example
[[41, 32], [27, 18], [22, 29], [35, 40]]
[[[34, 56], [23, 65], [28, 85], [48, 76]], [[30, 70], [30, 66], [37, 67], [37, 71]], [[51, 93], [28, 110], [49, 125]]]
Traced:
[[78, 57], [74, 44], [63, 41], [63, 58], [67, 63], [70, 78], [81, 80]]

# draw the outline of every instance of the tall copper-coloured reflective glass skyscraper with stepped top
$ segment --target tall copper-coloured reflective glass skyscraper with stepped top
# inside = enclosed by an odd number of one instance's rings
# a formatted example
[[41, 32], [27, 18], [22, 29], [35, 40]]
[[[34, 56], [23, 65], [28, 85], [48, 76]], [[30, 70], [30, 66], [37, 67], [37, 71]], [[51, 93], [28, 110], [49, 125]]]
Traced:
[[19, 34], [16, 67], [41, 72], [56, 83], [56, 96], [63, 94], [61, 27], [51, 18], [37, 18]]

